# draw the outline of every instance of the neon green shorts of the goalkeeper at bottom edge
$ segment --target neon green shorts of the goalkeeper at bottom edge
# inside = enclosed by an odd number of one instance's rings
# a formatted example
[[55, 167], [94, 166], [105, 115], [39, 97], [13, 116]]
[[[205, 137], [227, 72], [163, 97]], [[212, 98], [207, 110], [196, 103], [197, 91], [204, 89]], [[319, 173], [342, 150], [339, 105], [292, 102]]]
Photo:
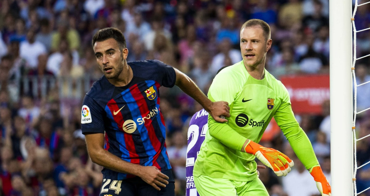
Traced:
[[225, 178], [210, 178], [209, 176], [194, 176], [196, 190], [200, 196], [269, 196], [265, 185], [259, 178], [248, 182], [238, 182]]

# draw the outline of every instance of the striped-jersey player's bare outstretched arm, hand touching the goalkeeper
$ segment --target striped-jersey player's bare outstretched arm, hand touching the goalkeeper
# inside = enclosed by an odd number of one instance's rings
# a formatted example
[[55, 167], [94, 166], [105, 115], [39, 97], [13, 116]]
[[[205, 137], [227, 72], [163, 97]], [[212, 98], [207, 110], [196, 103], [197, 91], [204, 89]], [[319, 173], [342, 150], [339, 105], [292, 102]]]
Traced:
[[198, 86], [191, 80], [186, 74], [175, 69], [176, 72], [176, 83], [182, 91], [188, 94], [190, 97], [195, 99], [203, 108], [215, 119], [217, 122], [227, 122], [223, 116], [230, 116], [230, 107], [226, 101], [212, 102], [207, 96], [198, 88]]

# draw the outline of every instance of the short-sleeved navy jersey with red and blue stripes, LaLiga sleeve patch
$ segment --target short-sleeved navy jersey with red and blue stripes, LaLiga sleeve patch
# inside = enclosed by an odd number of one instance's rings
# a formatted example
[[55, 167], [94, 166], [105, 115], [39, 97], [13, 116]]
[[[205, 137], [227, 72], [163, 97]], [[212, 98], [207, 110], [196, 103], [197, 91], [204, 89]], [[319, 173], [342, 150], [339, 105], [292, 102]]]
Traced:
[[[127, 64], [134, 75], [128, 85], [116, 87], [103, 76], [85, 95], [82, 132], [105, 133], [105, 150], [124, 161], [171, 169], [165, 122], [159, 108], [159, 87], [175, 85], [175, 70], [158, 60]], [[107, 179], [133, 177], [107, 168], [102, 173]]]

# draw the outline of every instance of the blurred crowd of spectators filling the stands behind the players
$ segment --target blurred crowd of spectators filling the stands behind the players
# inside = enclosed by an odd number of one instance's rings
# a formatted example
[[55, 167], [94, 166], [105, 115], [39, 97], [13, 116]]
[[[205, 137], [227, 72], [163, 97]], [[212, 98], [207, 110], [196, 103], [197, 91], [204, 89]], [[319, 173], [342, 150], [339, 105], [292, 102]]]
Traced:
[[[357, 29], [369, 27], [369, 6], [357, 12]], [[1, 0], [0, 195], [100, 192], [101, 167], [89, 160], [80, 130], [84, 94], [102, 76], [91, 46], [98, 29], [124, 32], [128, 61], [161, 60], [191, 76], [206, 94], [219, 68], [242, 60], [239, 30], [250, 18], [271, 26], [266, 69], [276, 78], [329, 74], [329, 0]], [[358, 53], [369, 54], [369, 34], [357, 38]], [[357, 80], [369, 81], [369, 60], [357, 67]], [[358, 107], [370, 107], [370, 88], [358, 93]], [[299, 113], [297, 120], [330, 181], [329, 100], [322, 108], [320, 115]], [[185, 195], [188, 120], [199, 109], [178, 88], [161, 88], [178, 196]], [[360, 116], [358, 123], [360, 135], [369, 134], [370, 119]], [[271, 196], [316, 194], [312, 177], [281, 133], [262, 142], [295, 161], [283, 178], [260, 169]], [[370, 140], [364, 140], [359, 162], [369, 161], [369, 154]], [[370, 185], [369, 173], [360, 171], [359, 186]]]

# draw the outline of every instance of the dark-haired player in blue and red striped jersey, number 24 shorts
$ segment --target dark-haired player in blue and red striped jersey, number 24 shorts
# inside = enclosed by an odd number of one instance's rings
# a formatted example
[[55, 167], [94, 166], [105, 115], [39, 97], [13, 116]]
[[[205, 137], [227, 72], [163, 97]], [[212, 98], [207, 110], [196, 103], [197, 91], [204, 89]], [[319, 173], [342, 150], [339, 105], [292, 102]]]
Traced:
[[174, 195], [165, 144], [159, 87], [177, 85], [218, 122], [227, 102], [212, 102], [184, 73], [158, 60], [127, 62], [125, 37], [116, 28], [92, 39], [104, 76], [85, 95], [81, 126], [91, 160], [104, 167], [100, 196]]

